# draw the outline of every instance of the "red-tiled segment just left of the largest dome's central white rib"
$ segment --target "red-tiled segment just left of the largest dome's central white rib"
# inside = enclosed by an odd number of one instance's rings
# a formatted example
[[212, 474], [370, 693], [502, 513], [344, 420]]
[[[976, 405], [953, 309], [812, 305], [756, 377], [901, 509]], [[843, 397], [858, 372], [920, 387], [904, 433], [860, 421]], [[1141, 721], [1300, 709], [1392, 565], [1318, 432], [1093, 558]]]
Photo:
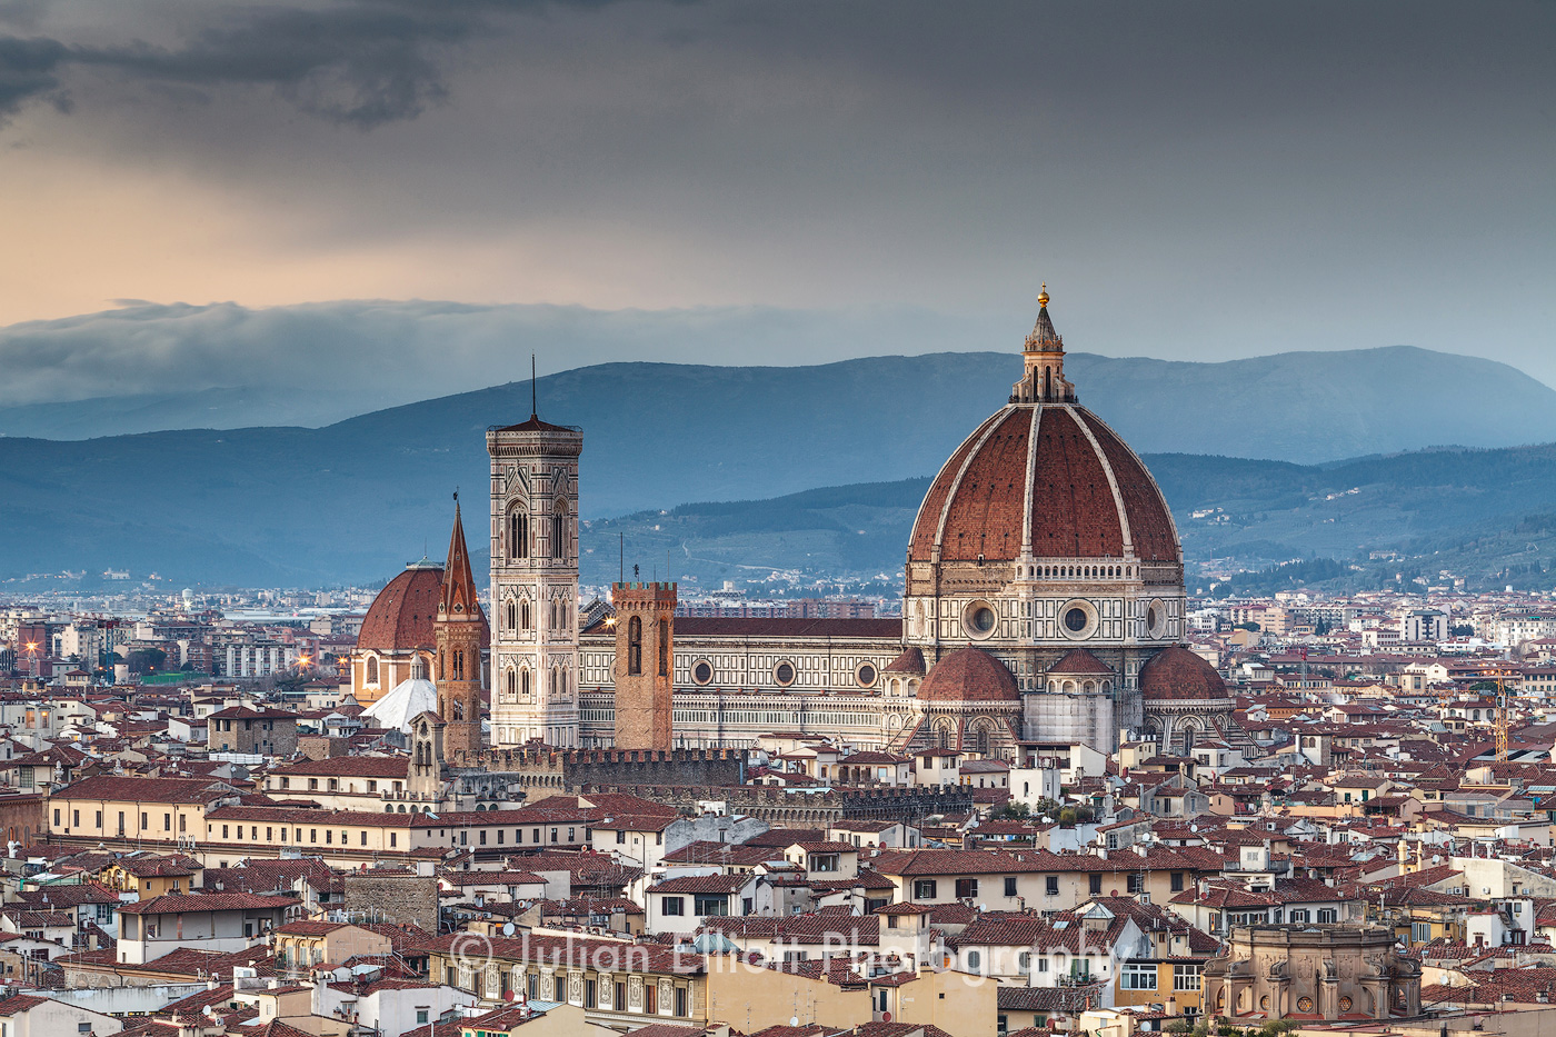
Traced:
[[1021, 551], [1027, 498], [1027, 436], [1033, 408], [1016, 408], [972, 456], [946, 512], [940, 557], [946, 562], [1010, 561]]

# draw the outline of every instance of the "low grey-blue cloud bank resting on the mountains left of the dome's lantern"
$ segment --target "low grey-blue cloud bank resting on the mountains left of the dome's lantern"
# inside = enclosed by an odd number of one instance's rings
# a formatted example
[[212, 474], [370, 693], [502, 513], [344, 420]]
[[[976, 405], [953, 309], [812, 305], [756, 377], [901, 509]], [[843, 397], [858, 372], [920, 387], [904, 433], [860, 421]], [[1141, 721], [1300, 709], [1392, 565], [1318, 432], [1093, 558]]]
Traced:
[[[126, 301], [129, 302], [129, 301]], [[1019, 327], [923, 311], [775, 307], [590, 310], [560, 305], [325, 302], [132, 304], [0, 329], [0, 408], [198, 392], [328, 391], [341, 416], [619, 360], [825, 363], [845, 357], [1004, 349]]]

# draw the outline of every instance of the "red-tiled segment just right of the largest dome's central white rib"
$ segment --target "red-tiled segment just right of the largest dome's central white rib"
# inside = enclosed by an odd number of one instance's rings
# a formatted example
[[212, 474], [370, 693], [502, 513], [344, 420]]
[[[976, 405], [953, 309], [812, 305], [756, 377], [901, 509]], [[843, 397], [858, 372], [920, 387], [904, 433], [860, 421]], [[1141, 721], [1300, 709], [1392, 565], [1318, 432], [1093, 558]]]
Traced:
[[1032, 494], [1032, 553], [1122, 557], [1123, 528], [1108, 473], [1067, 410], [1044, 408]]

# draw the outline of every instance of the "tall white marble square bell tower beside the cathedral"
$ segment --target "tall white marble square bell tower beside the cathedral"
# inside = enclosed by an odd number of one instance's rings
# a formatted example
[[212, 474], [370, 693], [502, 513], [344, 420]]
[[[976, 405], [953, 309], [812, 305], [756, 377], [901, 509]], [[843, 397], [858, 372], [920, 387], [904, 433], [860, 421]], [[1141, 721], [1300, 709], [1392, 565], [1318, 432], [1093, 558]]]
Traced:
[[[529, 420], [492, 456], [492, 743], [579, 746], [579, 455], [584, 433]], [[445, 718], [447, 719], [447, 718]]]

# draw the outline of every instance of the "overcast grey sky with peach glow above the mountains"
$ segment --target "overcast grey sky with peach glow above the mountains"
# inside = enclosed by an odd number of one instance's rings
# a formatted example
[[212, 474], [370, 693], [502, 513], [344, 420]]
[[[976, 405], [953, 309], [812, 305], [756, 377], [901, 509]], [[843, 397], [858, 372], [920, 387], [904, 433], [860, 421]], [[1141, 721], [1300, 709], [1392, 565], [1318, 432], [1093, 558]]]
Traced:
[[[0, 0], [0, 403], [297, 377], [213, 313], [622, 311], [655, 332], [590, 360], [800, 363], [1019, 349], [1043, 282], [1072, 349], [1556, 385], [1553, 53], [1534, 0]], [[826, 330], [664, 346], [730, 313]], [[445, 327], [397, 350], [454, 363]]]

